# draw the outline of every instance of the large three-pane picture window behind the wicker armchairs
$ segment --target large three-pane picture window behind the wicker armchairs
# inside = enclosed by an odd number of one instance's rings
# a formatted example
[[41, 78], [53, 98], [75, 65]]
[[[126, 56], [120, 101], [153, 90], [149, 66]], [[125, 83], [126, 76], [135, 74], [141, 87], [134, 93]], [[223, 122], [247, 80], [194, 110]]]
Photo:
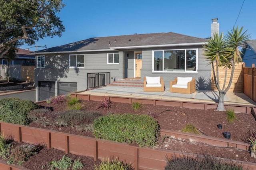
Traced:
[[152, 51], [153, 72], [196, 72], [198, 49]]

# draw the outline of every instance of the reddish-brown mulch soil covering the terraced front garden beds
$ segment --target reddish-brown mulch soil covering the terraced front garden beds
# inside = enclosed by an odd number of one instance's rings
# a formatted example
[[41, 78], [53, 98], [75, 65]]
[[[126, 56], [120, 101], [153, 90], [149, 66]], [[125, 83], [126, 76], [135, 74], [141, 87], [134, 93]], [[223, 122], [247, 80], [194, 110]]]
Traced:
[[[143, 104], [142, 108], [138, 111], [132, 109], [131, 104], [126, 103], [113, 103], [112, 107], [108, 110], [97, 109], [100, 102], [97, 101], [82, 101], [82, 107], [87, 111], [98, 111], [103, 115], [106, 114], [124, 114], [124, 113], [135, 113], [135, 114], [149, 114], [151, 113], [156, 117], [161, 129], [167, 129], [172, 131], [181, 131], [182, 128], [190, 123], [194, 125], [201, 133], [205, 136], [216, 137], [225, 139], [223, 132], [230, 132], [230, 140], [234, 141], [245, 141], [248, 137], [248, 131], [256, 131], [256, 122], [252, 114], [250, 113], [236, 113], [237, 121], [234, 123], [228, 123], [226, 119], [226, 112], [215, 111], [209, 109], [207, 111], [201, 109], [187, 109], [180, 107], [167, 107], [167, 106], [153, 106], [150, 104]], [[59, 105], [52, 106], [46, 102], [39, 103], [38, 105], [50, 107], [53, 111], [63, 110], [67, 107], [66, 102]], [[217, 124], [222, 124], [222, 129], [218, 129]], [[72, 133], [76, 135], [84, 135], [94, 137], [91, 131], [80, 131], [75, 127], [64, 128], [64, 127], [53, 127], [31, 123], [32, 127], [39, 127], [44, 129], [50, 129], [65, 133]], [[203, 143], [190, 142], [184, 139], [171, 139], [168, 137], [161, 137], [155, 148], [178, 150], [182, 152], [190, 152], [197, 154], [209, 154], [212, 156], [231, 158], [234, 160], [242, 160], [248, 162], [255, 162], [255, 158], [250, 157], [248, 150], [238, 150], [229, 147], [214, 147]], [[52, 160], [58, 160], [64, 155], [63, 151], [56, 149], [43, 149], [40, 154], [32, 156], [28, 162], [24, 164], [24, 167], [36, 170], [42, 169], [47, 162]], [[71, 154], [69, 154], [71, 155]], [[83, 170], [93, 169], [94, 164], [99, 164], [100, 161], [94, 162], [93, 158], [79, 156], [81, 161], [86, 167]]]

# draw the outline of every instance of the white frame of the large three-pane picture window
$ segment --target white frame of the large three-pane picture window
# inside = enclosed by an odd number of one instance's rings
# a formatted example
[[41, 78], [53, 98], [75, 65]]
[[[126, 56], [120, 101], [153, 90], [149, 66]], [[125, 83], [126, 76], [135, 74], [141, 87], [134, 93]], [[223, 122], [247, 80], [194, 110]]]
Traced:
[[[164, 51], [175, 51], [175, 50], [184, 50], [185, 51], [185, 61], [186, 61], [186, 51], [189, 51], [189, 50], [196, 50], [196, 70], [195, 71], [187, 71], [186, 70], [186, 62], [185, 62], [185, 71], [160, 71], [160, 70], [154, 70], [154, 52], [156, 51], [162, 51], [163, 52], [163, 57], [164, 57]], [[164, 65], [164, 60], [163, 60], [163, 65]], [[152, 72], [164, 72], [164, 73], [197, 73], [198, 72], [198, 49], [164, 49], [164, 50], [152, 50]]]

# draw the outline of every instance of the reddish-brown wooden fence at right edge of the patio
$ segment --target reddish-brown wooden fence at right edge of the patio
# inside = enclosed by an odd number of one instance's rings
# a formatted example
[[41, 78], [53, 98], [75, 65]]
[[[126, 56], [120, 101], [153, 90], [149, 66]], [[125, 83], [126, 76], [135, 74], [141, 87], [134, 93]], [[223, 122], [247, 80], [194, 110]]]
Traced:
[[252, 67], [245, 67], [244, 64], [244, 94], [250, 99], [256, 102], [256, 68], [252, 64]]

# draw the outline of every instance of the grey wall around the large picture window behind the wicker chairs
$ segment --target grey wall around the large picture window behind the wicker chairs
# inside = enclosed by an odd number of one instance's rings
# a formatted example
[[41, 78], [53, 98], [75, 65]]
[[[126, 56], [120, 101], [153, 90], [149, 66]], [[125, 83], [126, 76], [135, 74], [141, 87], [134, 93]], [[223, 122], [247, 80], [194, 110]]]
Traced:
[[[198, 49], [198, 72], [152, 72], [152, 51], [153, 50], [170, 50], [170, 49]], [[144, 76], [162, 76], [165, 88], [170, 88], [170, 81], [177, 76], [196, 78], [196, 89], [211, 90], [211, 66], [204, 59], [202, 46], [198, 47], [171, 47], [166, 49], [142, 49], [142, 69], [141, 80]]]

